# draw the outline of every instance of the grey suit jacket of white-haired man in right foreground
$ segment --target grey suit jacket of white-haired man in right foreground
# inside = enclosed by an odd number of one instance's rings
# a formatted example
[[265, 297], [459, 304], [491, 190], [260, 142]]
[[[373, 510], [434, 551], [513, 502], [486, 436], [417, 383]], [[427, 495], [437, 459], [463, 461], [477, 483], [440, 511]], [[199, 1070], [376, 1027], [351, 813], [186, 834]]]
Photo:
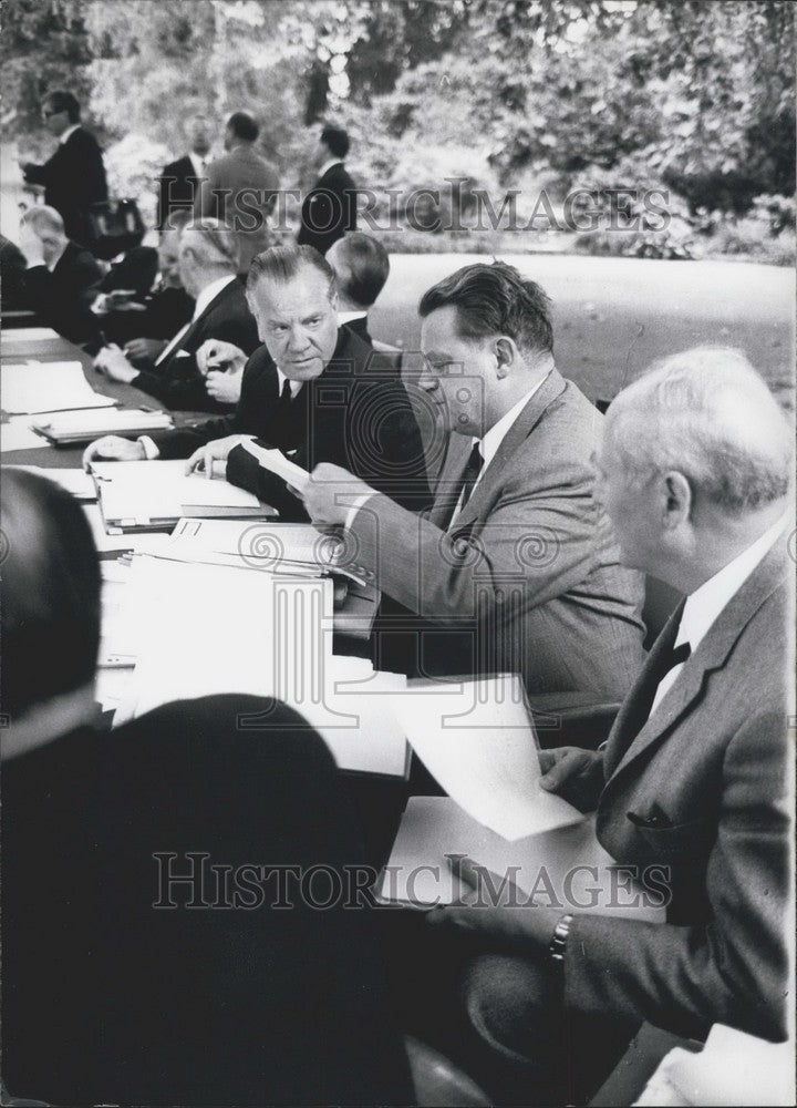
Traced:
[[661, 925], [576, 917], [565, 960], [573, 1007], [692, 1037], [714, 1023], [786, 1035], [788, 567], [784, 537], [638, 731], [638, 706], [674, 640], [676, 611], [618, 716], [602, 755], [598, 835], [620, 863], [669, 866], [672, 902]]

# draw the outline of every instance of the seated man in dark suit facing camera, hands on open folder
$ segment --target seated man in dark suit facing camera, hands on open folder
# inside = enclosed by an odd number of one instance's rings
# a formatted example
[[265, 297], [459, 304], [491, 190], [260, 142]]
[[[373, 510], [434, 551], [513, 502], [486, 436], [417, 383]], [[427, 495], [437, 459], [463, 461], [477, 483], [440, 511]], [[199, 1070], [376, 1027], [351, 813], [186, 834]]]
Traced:
[[338, 328], [334, 273], [309, 247], [272, 247], [249, 271], [247, 296], [265, 340], [244, 370], [234, 416], [131, 443], [106, 437], [92, 458], [186, 458], [190, 468], [226, 471], [284, 519], [304, 520], [301, 501], [241, 445], [290, 453], [310, 469], [345, 464], [406, 505], [429, 502], [423, 447], [400, 380], [371, 370], [373, 352]]

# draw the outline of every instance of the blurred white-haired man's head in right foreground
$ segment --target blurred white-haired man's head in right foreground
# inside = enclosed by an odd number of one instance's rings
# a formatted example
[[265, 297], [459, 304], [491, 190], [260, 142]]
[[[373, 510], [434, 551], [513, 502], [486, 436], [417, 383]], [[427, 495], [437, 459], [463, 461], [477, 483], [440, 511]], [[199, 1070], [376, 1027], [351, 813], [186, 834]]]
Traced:
[[598, 466], [623, 561], [692, 592], [785, 515], [791, 430], [742, 351], [696, 347], [617, 397]]

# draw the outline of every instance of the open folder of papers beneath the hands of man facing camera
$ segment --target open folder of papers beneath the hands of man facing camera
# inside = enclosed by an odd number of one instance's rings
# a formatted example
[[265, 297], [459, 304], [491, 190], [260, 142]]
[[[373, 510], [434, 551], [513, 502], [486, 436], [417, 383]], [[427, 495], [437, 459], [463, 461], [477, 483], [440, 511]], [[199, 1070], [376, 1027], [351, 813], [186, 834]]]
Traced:
[[263, 519], [275, 510], [227, 481], [186, 475], [184, 461], [92, 464], [106, 529], [170, 531], [183, 516]]

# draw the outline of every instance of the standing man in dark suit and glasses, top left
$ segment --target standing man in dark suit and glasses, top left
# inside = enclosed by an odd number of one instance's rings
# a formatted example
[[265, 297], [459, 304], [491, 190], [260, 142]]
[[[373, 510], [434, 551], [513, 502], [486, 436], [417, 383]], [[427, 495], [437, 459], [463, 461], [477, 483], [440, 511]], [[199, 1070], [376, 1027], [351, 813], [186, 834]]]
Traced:
[[81, 126], [80, 104], [71, 92], [51, 92], [42, 117], [59, 145], [43, 165], [28, 162], [24, 179], [44, 185], [44, 203], [61, 213], [66, 237], [91, 249], [94, 242], [89, 209], [107, 199], [102, 151], [94, 135]]

